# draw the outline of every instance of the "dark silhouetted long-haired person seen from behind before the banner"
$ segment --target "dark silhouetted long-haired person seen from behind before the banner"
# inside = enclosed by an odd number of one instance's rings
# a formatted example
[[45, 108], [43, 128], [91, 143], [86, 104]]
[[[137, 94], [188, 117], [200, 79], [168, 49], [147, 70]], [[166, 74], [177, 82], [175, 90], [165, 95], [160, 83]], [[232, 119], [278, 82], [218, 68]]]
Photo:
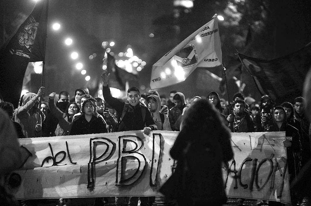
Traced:
[[222, 205], [226, 195], [222, 162], [233, 158], [230, 131], [220, 113], [206, 99], [186, 112], [181, 131], [170, 150], [178, 161], [173, 175], [160, 192], [183, 205]]

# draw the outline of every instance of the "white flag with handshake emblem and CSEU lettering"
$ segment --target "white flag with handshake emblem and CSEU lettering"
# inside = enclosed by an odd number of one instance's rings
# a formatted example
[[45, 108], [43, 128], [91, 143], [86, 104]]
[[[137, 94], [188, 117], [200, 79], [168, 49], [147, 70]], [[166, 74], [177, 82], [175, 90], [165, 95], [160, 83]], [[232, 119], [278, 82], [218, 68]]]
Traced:
[[197, 67], [222, 64], [217, 18], [203, 25], [152, 66], [151, 89], [185, 81]]

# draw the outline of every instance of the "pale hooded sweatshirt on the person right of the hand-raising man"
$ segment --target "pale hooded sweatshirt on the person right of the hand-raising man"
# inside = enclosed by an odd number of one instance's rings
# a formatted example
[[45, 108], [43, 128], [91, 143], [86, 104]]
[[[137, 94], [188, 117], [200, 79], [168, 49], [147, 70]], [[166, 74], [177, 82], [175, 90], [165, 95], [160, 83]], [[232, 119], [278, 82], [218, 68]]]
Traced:
[[148, 99], [153, 99], [156, 101], [156, 111], [155, 112], [151, 112], [152, 116], [153, 116], [153, 120], [156, 122], [156, 125], [158, 127], [158, 130], [166, 130], [166, 131], [172, 131], [171, 126], [169, 124], [169, 118], [162, 114], [164, 116], [164, 122], [162, 125], [162, 121], [161, 121], [161, 117], [160, 117], [160, 110], [161, 110], [161, 99], [159, 96], [151, 94]]

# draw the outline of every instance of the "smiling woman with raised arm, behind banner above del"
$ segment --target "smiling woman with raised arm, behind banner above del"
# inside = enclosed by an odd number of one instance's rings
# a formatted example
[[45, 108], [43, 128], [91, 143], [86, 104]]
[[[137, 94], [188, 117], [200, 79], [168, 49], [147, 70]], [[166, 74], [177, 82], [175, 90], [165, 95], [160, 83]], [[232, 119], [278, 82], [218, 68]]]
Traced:
[[79, 112], [79, 106], [75, 102], [67, 103], [66, 112], [62, 112], [55, 105], [55, 94], [55, 92], [49, 94], [49, 108], [53, 115], [58, 119], [58, 125], [55, 129], [55, 135], [68, 135], [72, 123], [72, 117]]

